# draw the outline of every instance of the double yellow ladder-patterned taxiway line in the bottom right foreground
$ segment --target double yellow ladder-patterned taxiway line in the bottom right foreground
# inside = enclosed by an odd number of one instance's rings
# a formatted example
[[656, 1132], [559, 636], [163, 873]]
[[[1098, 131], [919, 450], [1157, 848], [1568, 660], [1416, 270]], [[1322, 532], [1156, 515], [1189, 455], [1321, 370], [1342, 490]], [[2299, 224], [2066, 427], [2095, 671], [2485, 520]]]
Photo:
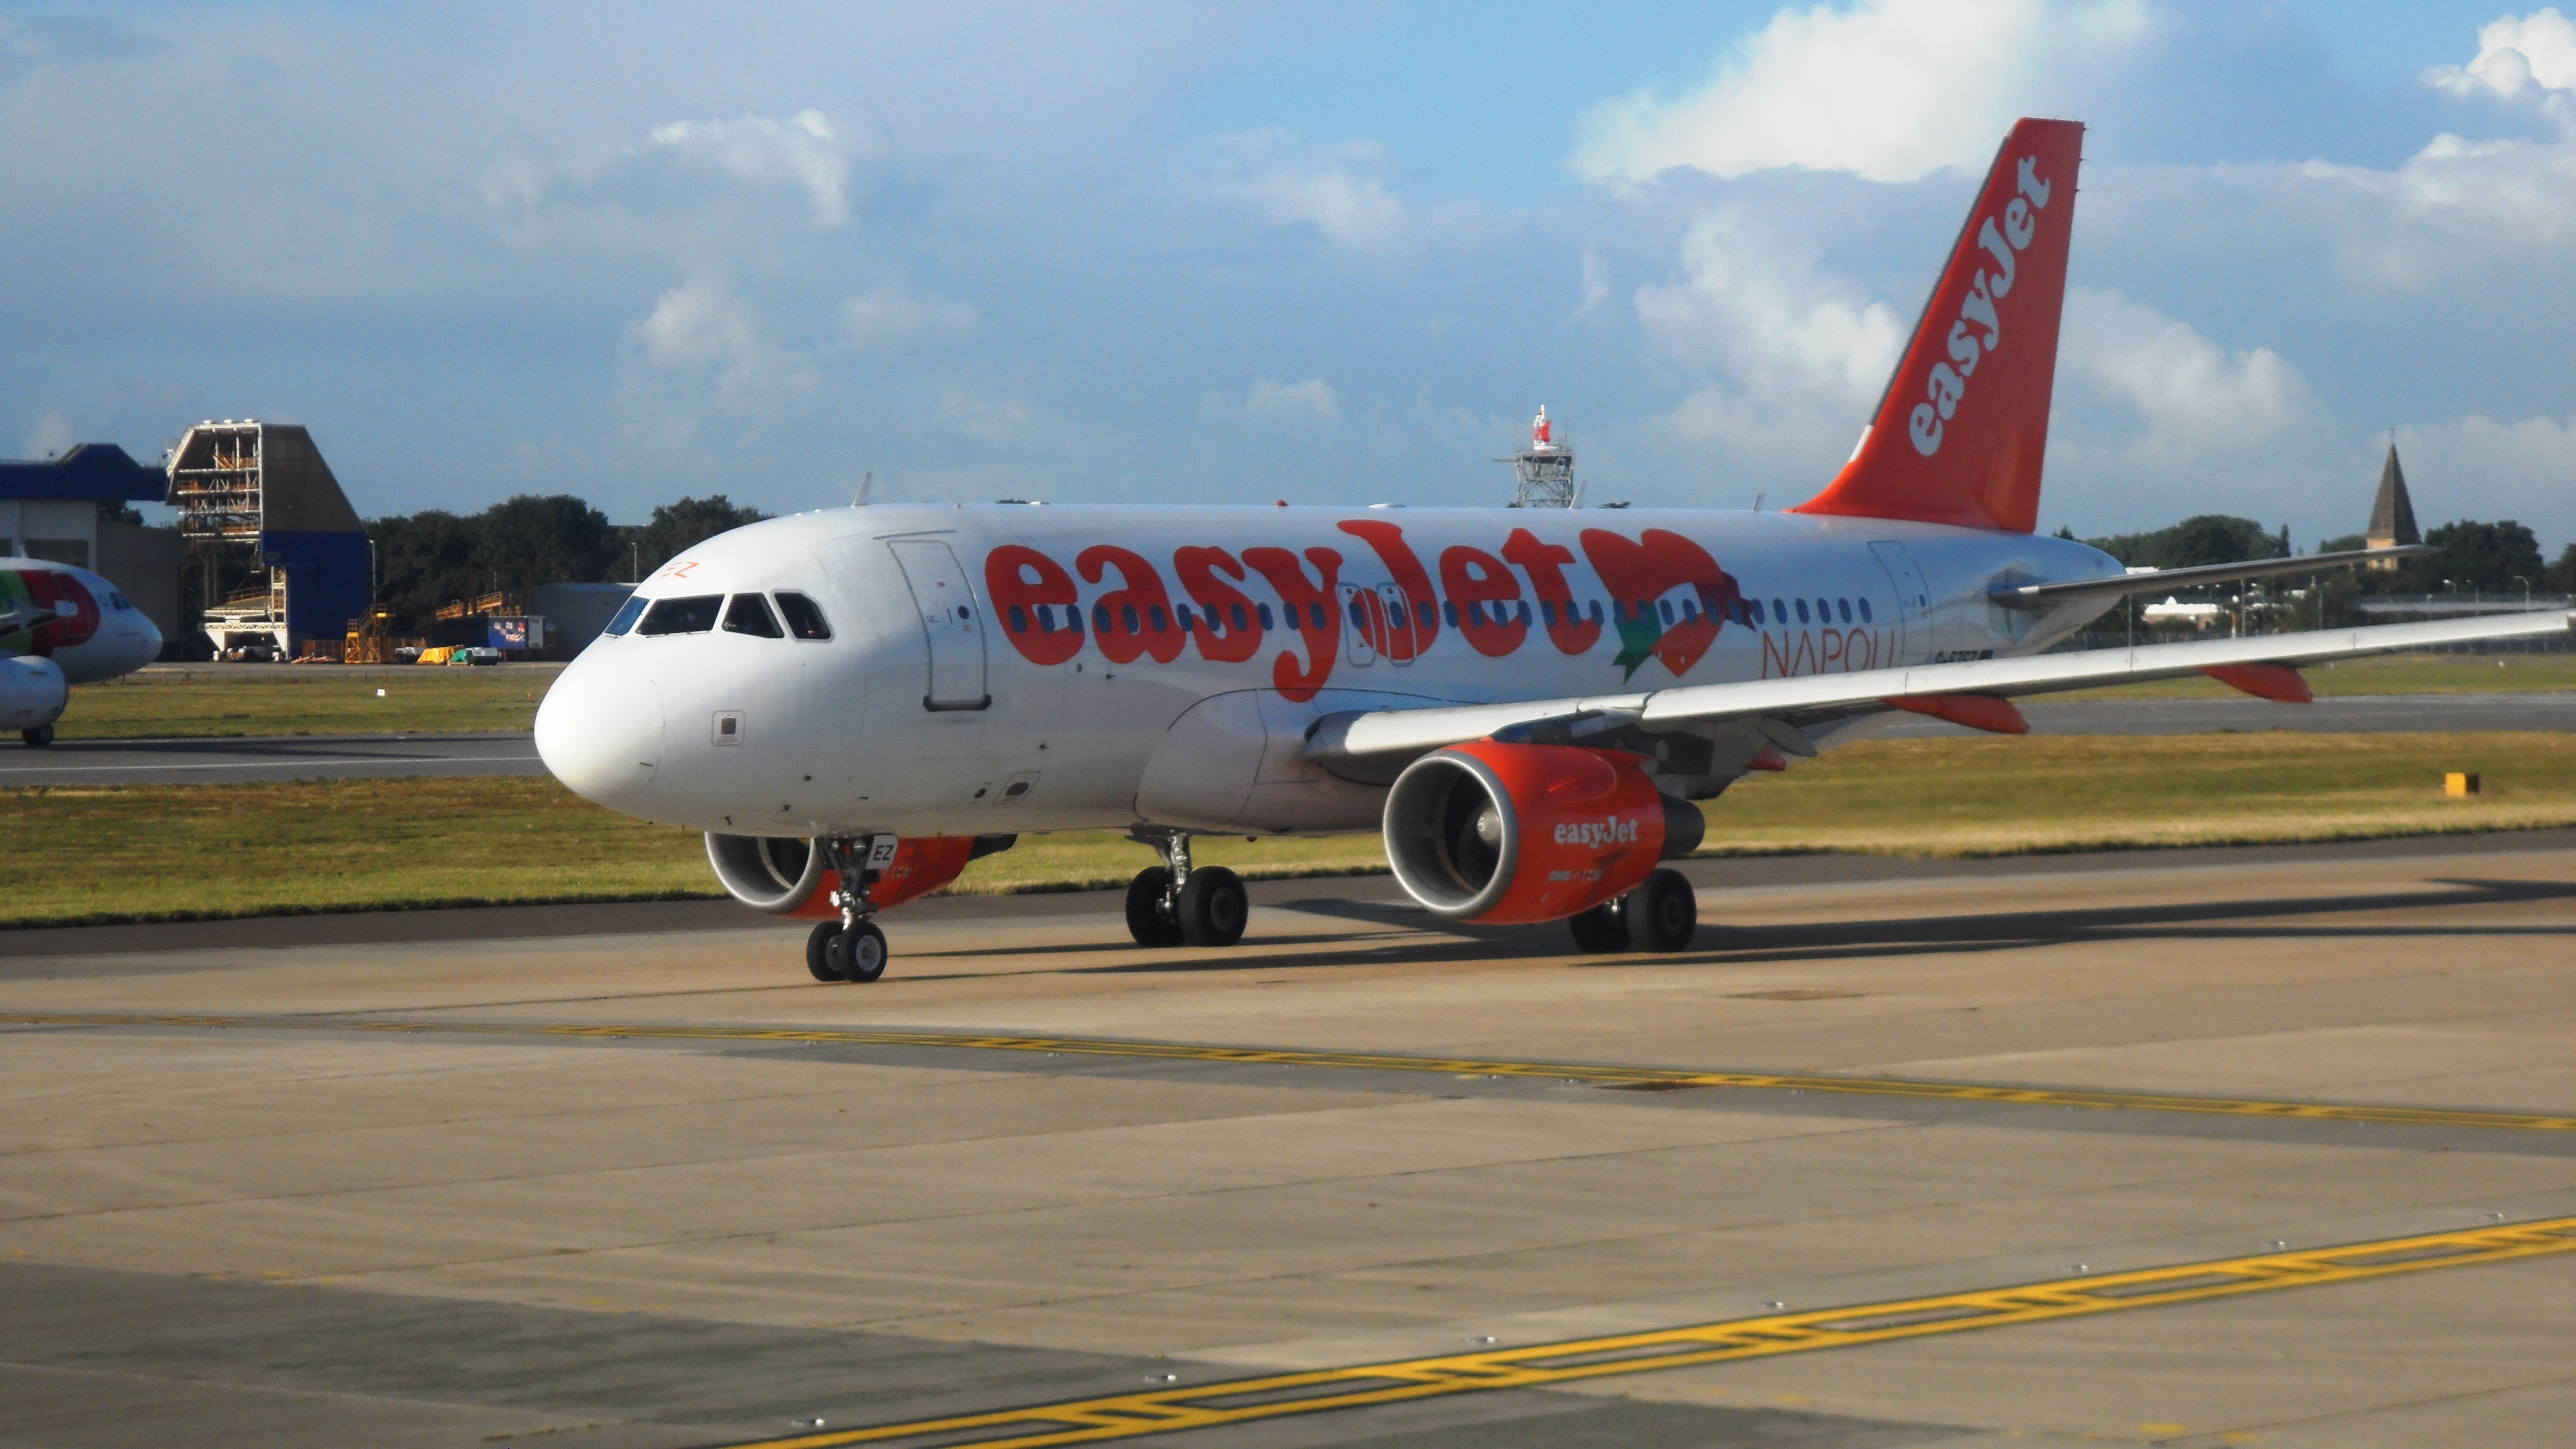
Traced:
[[878, 1423], [868, 1428], [832, 1428], [822, 1434], [799, 1434], [793, 1439], [760, 1439], [737, 1444], [734, 1449], [829, 1449], [837, 1444], [902, 1444], [907, 1439], [938, 1444], [940, 1449], [1038, 1449], [1043, 1444], [1097, 1444], [1103, 1439], [1141, 1439], [1146, 1434], [1218, 1428], [1229, 1423], [1327, 1413], [1337, 1408], [1368, 1408], [1481, 1390], [1528, 1390], [1600, 1379], [1610, 1374], [1643, 1374], [1692, 1364], [1726, 1364], [1734, 1359], [1770, 1359], [1780, 1354], [1808, 1354], [1816, 1348], [1852, 1348], [1860, 1343], [1886, 1343], [1891, 1338], [1927, 1338], [1932, 1333], [1965, 1333], [1971, 1328], [2007, 1328], [2014, 1323], [2045, 1323], [2050, 1318], [2081, 1318], [2089, 1312], [2117, 1312], [2169, 1302], [2200, 1302], [2313, 1284], [2347, 1284], [2424, 1269], [2506, 1263], [2514, 1258], [2568, 1250], [2576, 1250], [2576, 1217], [2555, 1217], [2548, 1222], [2522, 1222], [2509, 1227], [2383, 1238], [2378, 1243], [2300, 1248], [2293, 1253], [2262, 1253], [2254, 1258], [2223, 1258], [2213, 1263], [2177, 1263], [2169, 1269], [2056, 1279], [2009, 1289], [1971, 1289], [1940, 1297], [1829, 1307], [1819, 1312], [1734, 1318], [1726, 1323], [1698, 1323], [1690, 1328], [1659, 1328], [1654, 1333], [1566, 1338], [1558, 1343], [1481, 1348], [1473, 1354], [1445, 1354], [1437, 1359], [1401, 1359], [1394, 1364], [1358, 1364], [1350, 1369], [1314, 1369], [1303, 1374], [1262, 1374], [1136, 1395], [1100, 1395], [1005, 1408], [994, 1413], [961, 1413], [909, 1423]]

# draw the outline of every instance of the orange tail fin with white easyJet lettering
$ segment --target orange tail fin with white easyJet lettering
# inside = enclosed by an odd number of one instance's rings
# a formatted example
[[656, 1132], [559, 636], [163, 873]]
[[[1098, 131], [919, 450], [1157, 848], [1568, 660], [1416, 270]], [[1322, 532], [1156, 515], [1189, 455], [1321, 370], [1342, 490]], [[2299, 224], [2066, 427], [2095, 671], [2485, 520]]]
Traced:
[[2014, 121], [1870, 431], [1795, 513], [2038, 526], [2081, 157], [2081, 124]]

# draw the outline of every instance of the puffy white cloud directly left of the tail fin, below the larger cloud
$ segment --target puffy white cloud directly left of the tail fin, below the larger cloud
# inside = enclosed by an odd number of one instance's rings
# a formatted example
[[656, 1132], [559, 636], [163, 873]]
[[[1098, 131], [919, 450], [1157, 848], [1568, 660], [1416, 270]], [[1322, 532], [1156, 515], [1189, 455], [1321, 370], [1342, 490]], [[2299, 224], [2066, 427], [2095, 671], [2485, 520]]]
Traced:
[[1636, 315], [1700, 382], [1664, 423], [1775, 462], [1839, 456], [1904, 345], [1893, 307], [1734, 211], [1690, 227], [1682, 276], [1641, 286]]

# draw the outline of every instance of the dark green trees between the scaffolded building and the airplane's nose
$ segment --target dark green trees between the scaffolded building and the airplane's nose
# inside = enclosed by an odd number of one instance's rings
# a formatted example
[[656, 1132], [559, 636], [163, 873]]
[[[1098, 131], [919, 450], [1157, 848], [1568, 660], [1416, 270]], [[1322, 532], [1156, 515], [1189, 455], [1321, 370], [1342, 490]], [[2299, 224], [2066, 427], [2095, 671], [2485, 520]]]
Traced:
[[724, 498], [683, 498], [647, 523], [611, 523], [569, 492], [505, 498], [482, 513], [428, 508], [368, 518], [376, 601], [397, 632], [428, 632], [443, 603], [484, 593], [536, 608], [541, 583], [634, 583], [683, 549], [768, 513]]

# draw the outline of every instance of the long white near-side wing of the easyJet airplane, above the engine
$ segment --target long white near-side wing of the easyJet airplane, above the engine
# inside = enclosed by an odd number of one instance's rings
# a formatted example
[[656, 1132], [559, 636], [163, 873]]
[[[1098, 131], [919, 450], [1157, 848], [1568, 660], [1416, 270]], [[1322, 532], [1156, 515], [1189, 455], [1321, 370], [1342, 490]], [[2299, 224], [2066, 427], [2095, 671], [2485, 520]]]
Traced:
[[1896, 704], [1899, 699], [1963, 694], [2009, 699], [2179, 678], [2228, 665], [2308, 665], [2393, 655], [2432, 645], [2566, 634], [2571, 629], [2576, 629], [2576, 614], [2550, 608], [2540, 614], [2488, 614], [2432, 624], [2378, 624], [2370, 629], [2318, 629], [2308, 634], [2262, 634], [2254, 639], [2200, 639], [2130, 650], [1963, 660], [1749, 683], [1695, 683], [1646, 694], [1535, 699], [1528, 704], [1376, 709], [1319, 719], [1306, 737], [1306, 758], [1324, 768], [1345, 766], [1358, 768], [1358, 773], [1383, 773], [1388, 763], [1401, 763], [1461, 740], [1481, 740], [1499, 730], [1530, 743], [1569, 743], [1613, 727], [1677, 730], [1695, 722], [1726, 719], [1767, 722], [1770, 730], [1765, 732], [1790, 748], [1790, 753], [1814, 753], [1811, 748], [1798, 748], [1798, 722], [1904, 709]]

